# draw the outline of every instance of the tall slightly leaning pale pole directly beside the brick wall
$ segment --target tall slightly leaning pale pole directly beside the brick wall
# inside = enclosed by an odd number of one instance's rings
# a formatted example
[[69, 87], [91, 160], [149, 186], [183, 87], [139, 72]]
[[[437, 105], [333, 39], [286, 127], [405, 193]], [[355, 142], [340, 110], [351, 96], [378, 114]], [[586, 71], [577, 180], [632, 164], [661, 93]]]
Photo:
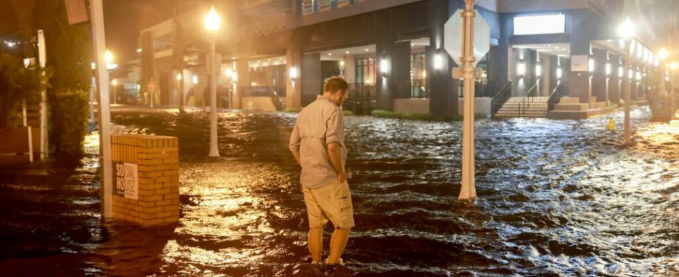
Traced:
[[90, 15], [92, 16], [92, 40], [94, 41], [94, 57], [97, 61], [97, 90], [99, 91], [97, 105], [99, 106], [99, 158], [101, 168], [101, 192], [103, 201], [101, 202], [103, 217], [113, 217], [113, 179], [111, 163], [111, 135], [110, 135], [110, 111], [108, 100], [108, 72], [106, 71], [106, 40], [104, 39], [103, 28], [103, 5], [102, 0], [90, 1]]

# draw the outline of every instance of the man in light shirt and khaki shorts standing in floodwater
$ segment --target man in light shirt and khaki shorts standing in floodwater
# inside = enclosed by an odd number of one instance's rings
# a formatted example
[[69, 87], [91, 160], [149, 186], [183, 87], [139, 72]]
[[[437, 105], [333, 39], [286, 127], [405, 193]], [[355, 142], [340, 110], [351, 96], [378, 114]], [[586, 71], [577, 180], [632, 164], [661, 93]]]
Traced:
[[[340, 267], [354, 226], [349, 184], [344, 175], [344, 114], [349, 85], [340, 77], [326, 82], [322, 96], [300, 111], [290, 135], [290, 151], [302, 167], [300, 183], [309, 216], [309, 252], [316, 275], [333, 276]], [[330, 256], [321, 262], [323, 227], [333, 222]]]

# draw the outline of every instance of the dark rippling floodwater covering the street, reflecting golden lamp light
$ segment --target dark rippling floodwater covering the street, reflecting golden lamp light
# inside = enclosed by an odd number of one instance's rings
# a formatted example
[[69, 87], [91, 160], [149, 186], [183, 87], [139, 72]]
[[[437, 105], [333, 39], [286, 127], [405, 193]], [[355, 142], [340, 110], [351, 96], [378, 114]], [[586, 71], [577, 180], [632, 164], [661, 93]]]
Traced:
[[[480, 120], [475, 202], [459, 202], [461, 123], [347, 117], [356, 276], [679, 276], [679, 123]], [[181, 222], [99, 219], [97, 136], [79, 166], [0, 172], [0, 272], [290, 276], [308, 262], [295, 114], [224, 113], [208, 159], [199, 112], [126, 111], [124, 132], [178, 136]], [[605, 125], [617, 123], [615, 132]], [[325, 243], [328, 244], [330, 228]]]

